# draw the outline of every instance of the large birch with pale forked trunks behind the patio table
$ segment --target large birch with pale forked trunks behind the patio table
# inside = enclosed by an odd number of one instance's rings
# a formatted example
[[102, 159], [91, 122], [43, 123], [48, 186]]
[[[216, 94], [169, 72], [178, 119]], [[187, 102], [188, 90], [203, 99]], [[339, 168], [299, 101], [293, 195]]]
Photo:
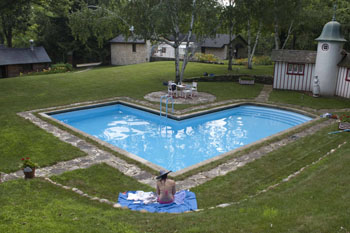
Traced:
[[[217, 7], [217, 8], [216, 8]], [[175, 79], [181, 82], [189, 58], [193, 33], [197, 36], [212, 32], [218, 10], [214, 0], [129, 0], [110, 1], [108, 5], [91, 7], [69, 16], [69, 25], [76, 39], [86, 43], [95, 37], [102, 44], [118, 34], [164, 42], [175, 49]], [[185, 56], [180, 70], [179, 47], [185, 42]]]

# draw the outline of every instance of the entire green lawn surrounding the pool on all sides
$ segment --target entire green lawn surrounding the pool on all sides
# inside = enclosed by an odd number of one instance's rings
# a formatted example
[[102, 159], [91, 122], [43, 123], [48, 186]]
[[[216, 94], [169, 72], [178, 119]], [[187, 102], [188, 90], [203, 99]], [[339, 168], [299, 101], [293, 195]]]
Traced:
[[[226, 68], [190, 63], [186, 76], [225, 74]], [[272, 66], [255, 68], [240, 67], [238, 72], [272, 74]], [[0, 171], [16, 171], [24, 156], [41, 166], [84, 156], [17, 112], [118, 96], [143, 99], [146, 93], [164, 90], [162, 82], [173, 76], [173, 62], [157, 62], [0, 79]], [[254, 98], [261, 88], [199, 83], [199, 90], [214, 94], [217, 101]], [[349, 100], [314, 99], [287, 91], [273, 91], [270, 101], [316, 109], [350, 107]], [[205, 208], [198, 213], [143, 214], [90, 201], [43, 179], [5, 182], [0, 184], [0, 232], [346, 232], [350, 230], [350, 133], [328, 134], [334, 130], [335, 125], [329, 126], [193, 188], [199, 207]], [[291, 181], [245, 200], [344, 141], [345, 146]], [[52, 179], [115, 201], [126, 190], [154, 190], [104, 164]], [[239, 204], [207, 209], [225, 202]]]

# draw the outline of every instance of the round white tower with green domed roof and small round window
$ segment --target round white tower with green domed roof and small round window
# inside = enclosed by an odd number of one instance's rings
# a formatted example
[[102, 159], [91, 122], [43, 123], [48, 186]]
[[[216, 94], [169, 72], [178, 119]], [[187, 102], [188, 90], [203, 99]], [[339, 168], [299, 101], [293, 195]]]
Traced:
[[324, 25], [318, 41], [315, 76], [318, 77], [320, 95], [334, 96], [337, 85], [338, 63], [346, 42], [340, 31], [340, 23], [333, 20]]

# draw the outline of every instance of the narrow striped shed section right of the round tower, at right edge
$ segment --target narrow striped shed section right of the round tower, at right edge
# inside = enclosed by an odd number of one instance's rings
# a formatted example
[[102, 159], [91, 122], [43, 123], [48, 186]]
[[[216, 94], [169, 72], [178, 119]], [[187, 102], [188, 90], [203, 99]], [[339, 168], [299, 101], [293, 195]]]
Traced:
[[350, 54], [346, 53], [338, 64], [338, 80], [335, 94], [350, 98]]

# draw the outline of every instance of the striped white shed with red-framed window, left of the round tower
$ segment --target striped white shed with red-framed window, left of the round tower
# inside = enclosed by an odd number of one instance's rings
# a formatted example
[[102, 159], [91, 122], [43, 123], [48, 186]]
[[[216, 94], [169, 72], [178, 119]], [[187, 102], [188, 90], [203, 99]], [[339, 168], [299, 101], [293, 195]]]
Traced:
[[273, 50], [274, 89], [312, 91], [316, 51]]

